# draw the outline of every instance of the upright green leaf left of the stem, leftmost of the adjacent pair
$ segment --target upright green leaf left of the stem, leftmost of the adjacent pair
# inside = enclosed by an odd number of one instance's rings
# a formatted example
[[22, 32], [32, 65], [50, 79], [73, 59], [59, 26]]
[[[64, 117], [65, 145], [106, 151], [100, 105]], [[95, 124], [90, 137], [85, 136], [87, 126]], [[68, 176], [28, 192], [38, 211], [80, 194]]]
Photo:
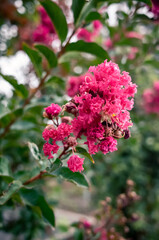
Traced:
[[33, 66], [35, 68], [35, 72], [39, 77], [42, 75], [42, 57], [38, 53], [38, 51], [30, 48], [26, 43], [23, 44], [23, 49], [26, 52], [26, 54], [29, 56], [31, 62], [33, 63]]

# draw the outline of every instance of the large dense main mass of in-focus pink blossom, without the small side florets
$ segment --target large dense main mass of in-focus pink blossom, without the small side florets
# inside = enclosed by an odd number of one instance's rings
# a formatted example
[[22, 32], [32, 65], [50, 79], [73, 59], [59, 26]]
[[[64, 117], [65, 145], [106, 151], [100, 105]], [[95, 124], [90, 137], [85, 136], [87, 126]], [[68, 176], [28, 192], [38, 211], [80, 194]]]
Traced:
[[[80, 85], [79, 96], [73, 101], [78, 116], [73, 119], [76, 138], [87, 137], [89, 153], [104, 154], [117, 150], [117, 140], [132, 126], [129, 110], [132, 109], [136, 85], [127, 72], [120, 74], [117, 64], [104, 61], [90, 67], [94, 76], [85, 75]], [[131, 98], [131, 99], [130, 99]]]

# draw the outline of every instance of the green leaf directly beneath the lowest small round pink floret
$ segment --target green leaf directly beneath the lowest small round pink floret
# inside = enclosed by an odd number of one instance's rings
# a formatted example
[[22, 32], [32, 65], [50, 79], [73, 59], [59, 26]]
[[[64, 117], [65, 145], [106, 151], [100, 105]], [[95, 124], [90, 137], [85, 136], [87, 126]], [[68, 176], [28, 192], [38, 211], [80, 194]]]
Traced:
[[52, 174], [55, 176], [63, 177], [64, 179], [66, 179], [70, 182], [73, 182], [77, 185], [80, 185], [82, 187], [89, 186], [85, 176], [82, 173], [72, 172], [67, 167], [60, 167], [57, 170], [55, 170], [54, 172], [52, 172]]

